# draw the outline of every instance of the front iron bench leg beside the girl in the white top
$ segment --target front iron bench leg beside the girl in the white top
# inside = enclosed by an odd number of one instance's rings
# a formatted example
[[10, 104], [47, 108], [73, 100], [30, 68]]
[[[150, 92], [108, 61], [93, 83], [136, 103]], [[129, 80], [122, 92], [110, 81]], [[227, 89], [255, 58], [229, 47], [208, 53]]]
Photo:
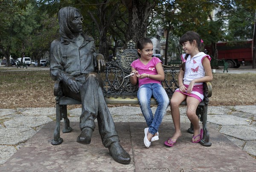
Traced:
[[205, 146], [205, 147], [210, 147], [212, 145], [212, 143], [209, 141], [210, 140], [210, 136], [209, 136], [209, 131], [207, 130], [207, 109], [208, 106], [207, 104], [204, 105], [204, 114], [203, 114], [203, 130], [204, 130], [204, 134], [203, 134], [203, 139], [200, 141], [200, 144]]

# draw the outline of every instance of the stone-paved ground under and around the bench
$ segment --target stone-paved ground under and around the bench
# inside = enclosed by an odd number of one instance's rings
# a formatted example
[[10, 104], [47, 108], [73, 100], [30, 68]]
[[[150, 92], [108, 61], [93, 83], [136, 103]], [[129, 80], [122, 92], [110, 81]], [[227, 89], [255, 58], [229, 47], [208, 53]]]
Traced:
[[177, 144], [172, 148], [163, 144], [174, 132], [167, 111], [160, 140], [147, 149], [140, 108], [111, 107], [121, 143], [132, 158], [123, 165], [109, 156], [97, 127], [90, 145], [76, 143], [81, 108], [68, 111], [73, 131], [61, 133], [64, 142], [58, 146], [49, 143], [55, 108], [0, 109], [0, 171], [256, 171], [255, 105], [208, 107], [211, 147], [190, 143], [185, 110], [180, 108], [182, 136]]

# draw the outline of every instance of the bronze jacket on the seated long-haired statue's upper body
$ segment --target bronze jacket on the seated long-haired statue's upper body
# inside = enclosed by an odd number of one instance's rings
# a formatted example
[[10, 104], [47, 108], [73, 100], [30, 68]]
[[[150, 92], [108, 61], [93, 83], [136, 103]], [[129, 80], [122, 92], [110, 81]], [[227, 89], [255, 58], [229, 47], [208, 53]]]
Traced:
[[66, 82], [71, 76], [94, 72], [97, 55], [94, 39], [81, 34], [83, 44], [78, 47], [75, 42], [55, 39], [50, 48], [50, 73], [53, 80]]

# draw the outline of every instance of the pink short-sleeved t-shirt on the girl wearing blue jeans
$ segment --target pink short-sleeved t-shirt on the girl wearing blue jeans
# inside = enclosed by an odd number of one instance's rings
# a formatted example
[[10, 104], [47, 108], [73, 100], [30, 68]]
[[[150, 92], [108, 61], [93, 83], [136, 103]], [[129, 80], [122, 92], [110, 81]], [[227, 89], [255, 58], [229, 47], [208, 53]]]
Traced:
[[[156, 69], [157, 63], [162, 63], [162, 61], [157, 57], [152, 57], [152, 59], [148, 62], [147, 65], [144, 65], [142, 62], [140, 62], [140, 59], [137, 59], [131, 63], [131, 67], [137, 70], [140, 75], [143, 73], [147, 73], [149, 75], [157, 75], [157, 69]], [[149, 84], [149, 83], [161, 84], [160, 81], [150, 79], [150, 78], [143, 78], [143, 79], [139, 78], [138, 81], [139, 81], [139, 87], [143, 84]]]

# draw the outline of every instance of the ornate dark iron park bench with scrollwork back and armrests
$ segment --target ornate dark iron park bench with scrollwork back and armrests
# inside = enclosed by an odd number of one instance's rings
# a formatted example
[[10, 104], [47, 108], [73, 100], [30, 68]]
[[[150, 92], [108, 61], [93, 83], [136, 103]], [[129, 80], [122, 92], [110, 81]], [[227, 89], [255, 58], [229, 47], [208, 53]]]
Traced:
[[[131, 72], [131, 62], [137, 59], [137, 50], [135, 43], [130, 40], [127, 43], [125, 50], [120, 50], [120, 54], [107, 62], [105, 73], [99, 73], [104, 82], [103, 93], [107, 104], [139, 104], [137, 99], [138, 86], [131, 85], [129, 77], [125, 78]], [[177, 75], [179, 68], [164, 66], [165, 80], [162, 82], [166, 93], [171, 99], [173, 92], [178, 88]], [[67, 118], [67, 105], [68, 104], [81, 104], [80, 101], [64, 96], [62, 92], [62, 83], [55, 82], [54, 95], [56, 96], [56, 127], [54, 131], [54, 139], [51, 144], [61, 144], [62, 138], [60, 137], [60, 121], [64, 118], [63, 133], [72, 131], [69, 119]], [[203, 124], [204, 135], [201, 144], [204, 146], [211, 146], [209, 141], [209, 132], [207, 130], [207, 107], [209, 97], [212, 96], [212, 86], [210, 82], [204, 83], [204, 100], [199, 104], [196, 114]], [[157, 104], [154, 98], [151, 98], [151, 104]], [[183, 101], [181, 105], [186, 105]], [[188, 129], [189, 133], [193, 133], [193, 125], [191, 124]]]

